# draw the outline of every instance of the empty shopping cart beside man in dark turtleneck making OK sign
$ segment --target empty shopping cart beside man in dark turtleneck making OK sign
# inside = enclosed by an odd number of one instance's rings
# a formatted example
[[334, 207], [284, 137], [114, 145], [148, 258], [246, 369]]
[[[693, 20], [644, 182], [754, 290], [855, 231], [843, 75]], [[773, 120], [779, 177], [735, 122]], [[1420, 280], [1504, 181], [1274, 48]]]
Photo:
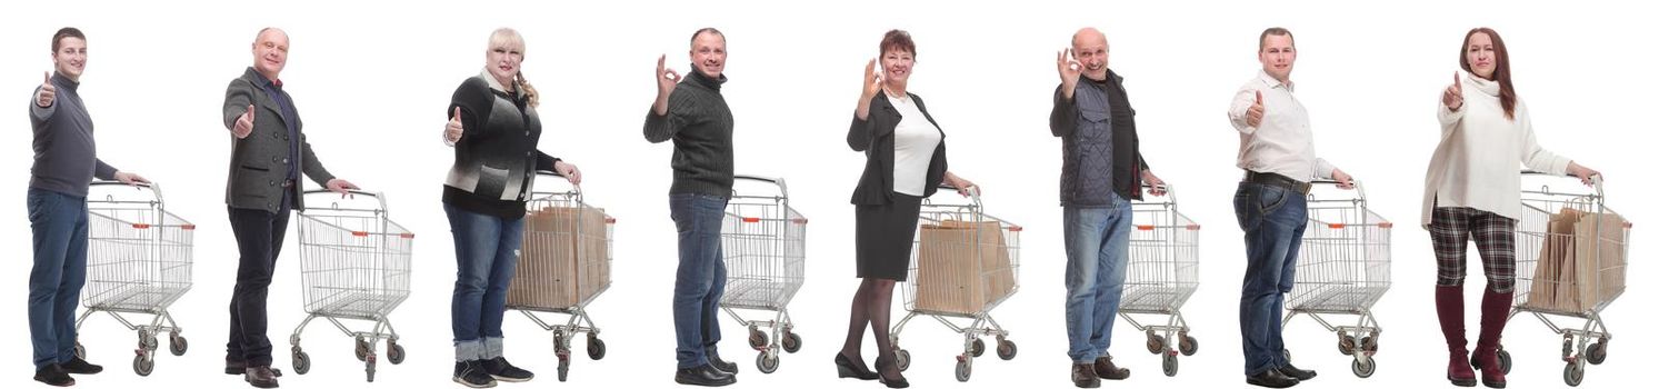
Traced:
[[[720, 309], [748, 327], [748, 346], [760, 351], [755, 366], [761, 372], [778, 371], [778, 349], [801, 349], [801, 336], [795, 334], [790, 318], [790, 299], [806, 281], [806, 216], [790, 208], [788, 186], [783, 178], [737, 176], [737, 181], [776, 186], [747, 194], [742, 186], [727, 203], [720, 226], [720, 248], [725, 253], [727, 288]], [[773, 313], [770, 321], [743, 319], [738, 309]], [[768, 327], [768, 336], [761, 327]]]

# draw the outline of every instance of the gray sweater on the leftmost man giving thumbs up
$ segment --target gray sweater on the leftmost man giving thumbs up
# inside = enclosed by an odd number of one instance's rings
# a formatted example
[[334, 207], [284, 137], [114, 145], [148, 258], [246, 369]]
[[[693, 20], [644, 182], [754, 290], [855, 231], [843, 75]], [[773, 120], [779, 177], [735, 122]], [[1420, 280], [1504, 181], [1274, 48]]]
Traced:
[[114, 180], [114, 166], [98, 160], [93, 143], [93, 118], [76, 91], [81, 85], [61, 75], [51, 76], [58, 88], [51, 106], [40, 106], [32, 95], [28, 123], [35, 130], [35, 166], [30, 168], [28, 188], [48, 190], [71, 196], [86, 196], [86, 186], [98, 180]]

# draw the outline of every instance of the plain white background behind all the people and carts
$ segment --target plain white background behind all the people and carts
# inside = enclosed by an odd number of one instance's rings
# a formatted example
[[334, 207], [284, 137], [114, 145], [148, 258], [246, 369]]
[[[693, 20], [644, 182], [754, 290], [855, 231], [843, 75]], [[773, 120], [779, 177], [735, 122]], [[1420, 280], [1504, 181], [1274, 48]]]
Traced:
[[[1354, 377], [1334, 336], [1302, 318], [1287, 323], [1301, 367], [1319, 369], [1311, 386], [1447, 386], [1445, 354], [1432, 311], [1433, 259], [1415, 228], [1422, 176], [1438, 140], [1433, 110], [1447, 86], [1453, 53], [1472, 27], [1493, 27], [1510, 47], [1516, 90], [1533, 110], [1546, 148], [1598, 168], [1609, 178], [1609, 206], [1636, 223], [1632, 283], [1606, 311], [1618, 341], [1584, 386], [1629, 386], [1646, 377], [1637, 346], [1654, 344], [1641, 309], [1654, 306], [1646, 258], [1647, 223], [1656, 221], [1652, 128], [1644, 111], [1659, 86], [1646, 50], [1649, 15], [1627, 3], [1196, 3], [1196, 2], [10, 2], [0, 12], [0, 91], [15, 98], [10, 146], [0, 153], [0, 246], [13, 253], [0, 274], [7, 341], [3, 386], [28, 382], [25, 294], [30, 238], [23, 193], [32, 163], [25, 96], [50, 70], [48, 42], [65, 25], [88, 33], [90, 63], [81, 95], [98, 123], [100, 156], [168, 190], [169, 209], [201, 228], [196, 288], [173, 306], [192, 349], [163, 354], [156, 372], [129, 369], [134, 336], [98, 316], [83, 331], [90, 357], [108, 367], [80, 376], [83, 387], [242, 386], [219, 374], [226, 304], [236, 246], [226, 223], [224, 176], [229, 135], [221, 121], [226, 83], [252, 63], [249, 43], [262, 27], [282, 27], [292, 52], [282, 80], [299, 103], [305, 133], [324, 165], [340, 178], [390, 196], [392, 216], [416, 236], [415, 288], [393, 313], [410, 357], [382, 362], [377, 387], [455, 387], [450, 381], [450, 291], [455, 259], [440, 208], [440, 185], [451, 151], [440, 141], [450, 93], [483, 65], [496, 27], [528, 40], [524, 75], [544, 93], [541, 148], [582, 168], [591, 203], [619, 219], [615, 284], [591, 306], [609, 342], [604, 361], [577, 357], [571, 386], [670, 387], [674, 332], [669, 316], [675, 251], [665, 191], [669, 145], [650, 145], [640, 123], [655, 90], [659, 53], [690, 71], [690, 33], [718, 27], [728, 37], [732, 78], [723, 93], [737, 115], [740, 173], [786, 176], [791, 201], [811, 218], [808, 283], [793, 308], [800, 354], [776, 374], [755, 369], [742, 329], [725, 321], [725, 356], [742, 364], [737, 387], [815, 387], [874, 382], [831, 376], [831, 356], [846, 331], [853, 278], [853, 206], [848, 196], [864, 158], [844, 145], [861, 66], [881, 35], [906, 28], [919, 48], [911, 91], [922, 95], [949, 135], [951, 168], [985, 188], [989, 213], [1022, 223], [1022, 289], [994, 314], [1014, 331], [1012, 362], [987, 352], [969, 384], [952, 379], [959, 337], [921, 321], [907, 327], [907, 372], [922, 387], [1070, 386], [1062, 314], [1058, 146], [1047, 130], [1058, 81], [1053, 53], [1080, 27], [1100, 27], [1112, 43], [1110, 66], [1123, 75], [1138, 110], [1141, 153], [1181, 194], [1185, 213], [1204, 223], [1203, 276], [1186, 304], [1203, 347], [1181, 357], [1181, 374], [1165, 377], [1143, 336], [1118, 327], [1117, 361], [1135, 371], [1128, 386], [1243, 386], [1238, 337], [1241, 233], [1231, 194], [1238, 136], [1223, 111], [1233, 91], [1259, 70], [1256, 37], [1289, 27], [1301, 50], [1297, 96], [1312, 113], [1319, 153], [1362, 180], [1374, 208], [1399, 223], [1394, 234], [1394, 289], [1375, 306], [1387, 336], [1370, 379]], [[1271, 108], [1269, 108], [1271, 110]], [[270, 336], [284, 387], [363, 384], [352, 342], [328, 326], [312, 326], [307, 376], [289, 366], [285, 334], [302, 318], [295, 236], [270, 288]], [[1473, 266], [1473, 263], [1472, 263]], [[1478, 269], [1478, 268], [1477, 268]], [[1470, 274], [1470, 337], [1483, 279]], [[899, 298], [902, 294], [896, 294]], [[901, 298], [899, 298], [901, 299]], [[894, 303], [902, 316], [902, 301]], [[320, 324], [320, 323], [319, 323]], [[509, 313], [508, 356], [552, 386], [551, 336]], [[1515, 354], [1511, 387], [1561, 384], [1559, 337], [1536, 319], [1516, 318], [1506, 331]], [[163, 346], [164, 349], [164, 346]], [[164, 352], [164, 351], [163, 351]], [[874, 359], [874, 346], [866, 346]], [[503, 384], [513, 387], [514, 384]], [[1108, 382], [1108, 386], [1121, 386]]]

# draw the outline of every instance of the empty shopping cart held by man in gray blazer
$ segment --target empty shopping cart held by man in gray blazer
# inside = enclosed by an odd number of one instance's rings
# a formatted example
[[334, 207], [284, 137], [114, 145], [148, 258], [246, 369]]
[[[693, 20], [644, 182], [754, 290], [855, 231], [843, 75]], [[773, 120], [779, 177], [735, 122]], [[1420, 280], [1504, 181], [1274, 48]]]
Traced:
[[[403, 362], [403, 346], [387, 314], [410, 296], [410, 248], [415, 234], [387, 218], [380, 193], [305, 191], [309, 204], [300, 216], [300, 278], [305, 319], [289, 344], [294, 372], [310, 371], [310, 356], [300, 349], [300, 332], [312, 319], [328, 319], [357, 341], [368, 382], [375, 381], [375, 344], [387, 341], [387, 359]], [[370, 331], [352, 331], [340, 319], [370, 321]]]

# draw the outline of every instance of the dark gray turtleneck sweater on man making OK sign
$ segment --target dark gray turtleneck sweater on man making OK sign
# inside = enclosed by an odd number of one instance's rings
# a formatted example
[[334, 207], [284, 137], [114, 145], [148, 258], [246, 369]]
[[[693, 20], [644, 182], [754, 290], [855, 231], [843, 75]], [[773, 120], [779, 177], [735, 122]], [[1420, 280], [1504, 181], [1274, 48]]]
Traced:
[[645, 140], [674, 140], [674, 186], [669, 194], [732, 196], [732, 108], [720, 80], [692, 70], [669, 95], [669, 115], [645, 113]]

